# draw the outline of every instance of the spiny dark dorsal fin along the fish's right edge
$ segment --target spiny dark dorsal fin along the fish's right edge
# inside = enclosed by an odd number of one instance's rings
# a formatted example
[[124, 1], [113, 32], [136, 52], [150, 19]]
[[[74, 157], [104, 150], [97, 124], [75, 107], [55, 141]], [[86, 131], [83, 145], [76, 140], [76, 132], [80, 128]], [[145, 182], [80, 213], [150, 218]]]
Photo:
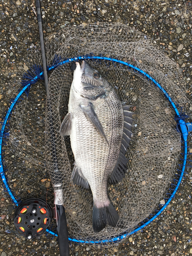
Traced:
[[128, 160], [125, 157], [127, 147], [130, 144], [132, 136], [132, 123], [133, 123], [133, 112], [130, 111], [130, 105], [125, 105], [125, 102], [122, 102], [123, 109], [123, 136], [121, 140], [121, 147], [119, 152], [119, 157], [116, 163], [116, 166], [113, 170], [113, 173], [109, 179], [111, 184], [116, 184], [122, 180], [126, 173], [126, 164]]

